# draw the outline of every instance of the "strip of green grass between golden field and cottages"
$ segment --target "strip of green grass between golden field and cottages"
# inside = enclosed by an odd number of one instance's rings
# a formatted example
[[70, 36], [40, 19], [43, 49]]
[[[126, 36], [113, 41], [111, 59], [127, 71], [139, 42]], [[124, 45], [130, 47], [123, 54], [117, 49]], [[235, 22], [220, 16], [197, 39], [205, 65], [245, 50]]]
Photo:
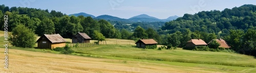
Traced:
[[202, 52], [177, 50], [146, 50], [132, 45], [98, 45], [93, 47], [72, 48], [82, 54], [111, 56], [131, 59], [184, 62], [198, 64], [215, 64], [227, 66], [256, 67], [252, 56], [226, 52]]

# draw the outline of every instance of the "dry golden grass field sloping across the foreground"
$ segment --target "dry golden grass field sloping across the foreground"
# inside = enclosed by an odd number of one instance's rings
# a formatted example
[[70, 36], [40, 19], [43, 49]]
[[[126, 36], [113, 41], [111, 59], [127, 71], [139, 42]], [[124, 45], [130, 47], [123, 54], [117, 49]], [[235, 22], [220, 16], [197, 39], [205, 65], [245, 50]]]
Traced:
[[[4, 48], [0, 48], [1, 51]], [[1, 52], [3, 53], [3, 52]], [[9, 68], [0, 72], [218, 72], [210, 68], [175, 66], [140, 61], [88, 58], [80, 56], [9, 50]], [[0, 54], [4, 62], [4, 54]], [[207, 71], [207, 70], [211, 71]]]

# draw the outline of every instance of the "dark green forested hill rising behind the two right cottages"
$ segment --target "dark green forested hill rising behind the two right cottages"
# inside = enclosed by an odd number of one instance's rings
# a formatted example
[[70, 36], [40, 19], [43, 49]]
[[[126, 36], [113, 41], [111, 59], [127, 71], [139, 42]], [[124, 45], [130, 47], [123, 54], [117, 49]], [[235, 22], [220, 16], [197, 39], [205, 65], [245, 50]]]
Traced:
[[219, 33], [222, 35], [228, 30], [247, 30], [256, 29], [256, 6], [243, 5], [232, 9], [224, 9], [223, 11], [211, 10], [202, 11], [194, 15], [184, 14], [176, 20], [166, 22], [161, 28], [168, 30], [168, 33], [175, 31], [201, 31], [208, 33]]

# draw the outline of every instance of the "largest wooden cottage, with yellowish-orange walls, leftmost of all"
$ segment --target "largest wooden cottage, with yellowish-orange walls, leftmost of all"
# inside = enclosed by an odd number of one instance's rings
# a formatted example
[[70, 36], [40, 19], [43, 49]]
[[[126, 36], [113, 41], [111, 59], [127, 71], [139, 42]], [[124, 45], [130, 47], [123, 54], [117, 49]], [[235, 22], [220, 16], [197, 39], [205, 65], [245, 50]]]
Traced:
[[66, 40], [59, 34], [42, 35], [37, 41], [38, 48], [50, 48], [63, 47], [66, 45]]

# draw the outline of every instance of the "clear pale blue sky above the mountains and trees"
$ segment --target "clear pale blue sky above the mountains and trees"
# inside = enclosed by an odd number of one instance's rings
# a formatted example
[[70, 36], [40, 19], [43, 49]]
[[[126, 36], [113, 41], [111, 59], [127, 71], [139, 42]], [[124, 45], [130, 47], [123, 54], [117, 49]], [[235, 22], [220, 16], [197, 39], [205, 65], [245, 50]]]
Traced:
[[147, 14], [160, 19], [183, 16], [199, 11], [224, 10], [244, 4], [256, 5], [255, 0], [8, 0], [1, 1], [8, 7], [28, 7], [61, 11], [66, 14], [84, 12], [94, 16], [112, 15], [130, 18]]

